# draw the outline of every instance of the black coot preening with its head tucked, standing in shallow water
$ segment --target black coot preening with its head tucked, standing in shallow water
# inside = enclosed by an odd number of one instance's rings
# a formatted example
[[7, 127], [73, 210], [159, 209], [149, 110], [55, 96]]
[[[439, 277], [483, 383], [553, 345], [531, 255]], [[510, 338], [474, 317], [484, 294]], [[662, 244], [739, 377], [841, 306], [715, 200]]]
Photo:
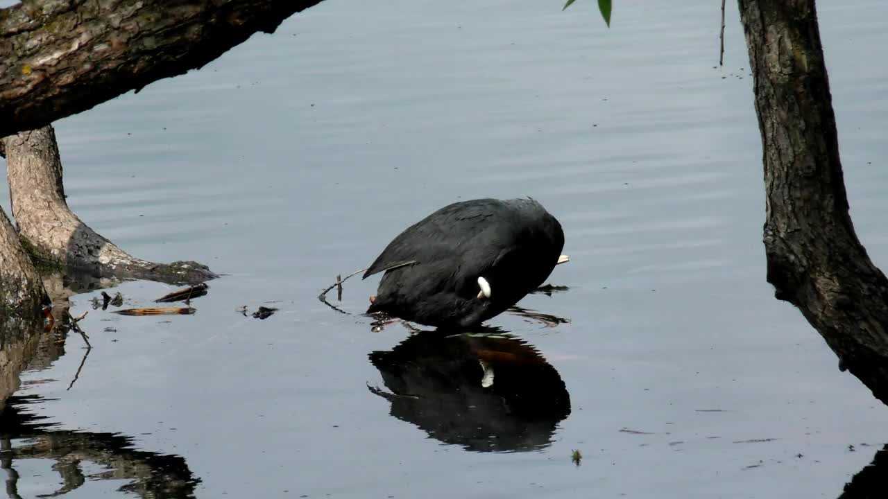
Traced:
[[559, 221], [534, 199], [449, 204], [389, 243], [363, 279], [385, 272], [368, 313], [467, 328], [515, 305], [561, 255]]

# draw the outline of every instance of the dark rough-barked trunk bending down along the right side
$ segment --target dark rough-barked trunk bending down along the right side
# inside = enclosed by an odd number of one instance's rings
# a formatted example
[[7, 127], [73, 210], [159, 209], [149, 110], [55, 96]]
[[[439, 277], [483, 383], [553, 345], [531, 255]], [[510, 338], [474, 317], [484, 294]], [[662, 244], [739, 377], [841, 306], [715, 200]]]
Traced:
[[739, 0], [765, 162], [767, 280], [888, 403], [888, 280], [848, 214], [813, 0]]

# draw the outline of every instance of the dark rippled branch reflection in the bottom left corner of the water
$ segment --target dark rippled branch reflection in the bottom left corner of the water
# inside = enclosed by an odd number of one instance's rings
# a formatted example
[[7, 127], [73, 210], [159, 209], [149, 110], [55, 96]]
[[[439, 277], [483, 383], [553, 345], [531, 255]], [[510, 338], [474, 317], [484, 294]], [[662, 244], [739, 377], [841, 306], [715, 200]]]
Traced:
[[[0, 411], [0, 467], [6, 471], [6, 491], [10, 497], [17, 496], [20, 481], [15, 463], [25, 459], [54, 462], [52, 469], [59, 474], [59, 488], [42, 497], [66, 494], [82, 487], [87, 479], [131, 480], [119, 490], [139, 497], [194, 497], [200, 479], [194, 477], [183, 457], [137, 450], [130, 437], [116, 433], [55, 430], [52, 424], [28, 412], [29, 404], [40, 401], [36, 396], [13, 396]], [[13, 446], [13, 440], [24, 442]], [[84, 462], [106, 470], [86, 476]]]

